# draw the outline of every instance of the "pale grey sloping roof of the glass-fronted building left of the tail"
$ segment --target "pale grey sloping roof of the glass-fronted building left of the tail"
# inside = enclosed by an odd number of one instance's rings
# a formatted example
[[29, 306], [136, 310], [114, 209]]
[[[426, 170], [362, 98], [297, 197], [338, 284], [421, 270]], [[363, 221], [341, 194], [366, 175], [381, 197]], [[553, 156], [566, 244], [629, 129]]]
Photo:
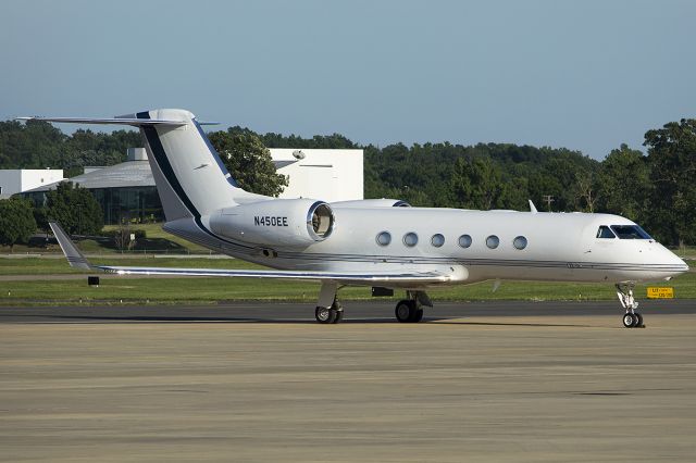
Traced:
[[[98, 168], [87, 174], [70, 178], [82, 188], [135, 188], [153, 187], [154, 178], [148, 161], [128, 161], [109, 167]], [[34, 188], [26, 192], [48, 191], [55, 189], [60, 182]]]

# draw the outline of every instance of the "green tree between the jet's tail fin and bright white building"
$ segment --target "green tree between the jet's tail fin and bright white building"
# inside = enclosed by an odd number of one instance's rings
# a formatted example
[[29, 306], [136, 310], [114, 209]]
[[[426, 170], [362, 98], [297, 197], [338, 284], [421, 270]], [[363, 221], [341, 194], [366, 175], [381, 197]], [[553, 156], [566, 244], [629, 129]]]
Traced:
[[256, 134], [214, 132], [209, 138], [240, 188], [273, 197], [283, 192], [287, 176], [275, 171], [271, 152]]

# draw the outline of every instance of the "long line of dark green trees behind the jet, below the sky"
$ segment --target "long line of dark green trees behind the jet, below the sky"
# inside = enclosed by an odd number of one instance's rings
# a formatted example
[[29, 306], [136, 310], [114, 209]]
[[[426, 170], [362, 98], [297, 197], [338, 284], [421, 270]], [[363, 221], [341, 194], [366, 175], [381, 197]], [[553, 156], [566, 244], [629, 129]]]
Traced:
[[[360, 145], [339, 134], [302, 138], [257, 134], [245, 127], [213, 132], [211, 141], [243, 186], [277, 195], [265, 148], [364, 150], [365, 198], [397, 198], [422, 207], [607, 212], [643, 225], [667, 245], [696, 243], [696, 120], [670, 122], [645, 134], [647, 153], [626, 145], [594, 160], [566, 148], [512, 143]], [[45, 122], [0, 123], [0, 168], [64, 168], [125, 160], [140, 146], [136, 132], [77, 130], [65, 135]]]

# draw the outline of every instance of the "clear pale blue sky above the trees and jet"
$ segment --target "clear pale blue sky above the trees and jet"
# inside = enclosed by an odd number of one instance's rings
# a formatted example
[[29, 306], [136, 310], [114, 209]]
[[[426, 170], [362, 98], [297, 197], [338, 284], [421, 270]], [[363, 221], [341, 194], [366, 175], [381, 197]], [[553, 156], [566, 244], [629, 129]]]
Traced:
[[184, 108], [223, 128], [602, 159], [696, 116], [695, 20], [691, 0], [5, 1], [0, 120]]

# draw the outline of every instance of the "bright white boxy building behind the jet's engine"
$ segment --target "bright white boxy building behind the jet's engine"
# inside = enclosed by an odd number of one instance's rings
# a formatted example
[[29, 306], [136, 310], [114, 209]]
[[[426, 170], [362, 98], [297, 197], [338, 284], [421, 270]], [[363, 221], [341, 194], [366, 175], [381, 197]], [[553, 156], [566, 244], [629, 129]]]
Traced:
[[278, 174], [288, 176], [279, 198], [326, 202], [363, 199], [362, 150], [271, 148]]

